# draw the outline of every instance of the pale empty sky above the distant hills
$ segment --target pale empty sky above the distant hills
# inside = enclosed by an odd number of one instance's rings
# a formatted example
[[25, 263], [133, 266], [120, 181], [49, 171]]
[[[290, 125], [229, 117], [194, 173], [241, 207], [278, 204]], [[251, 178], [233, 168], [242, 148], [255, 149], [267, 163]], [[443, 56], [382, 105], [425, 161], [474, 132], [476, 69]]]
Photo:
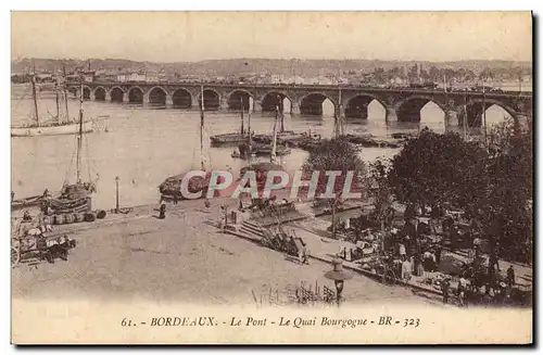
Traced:
[[532, 60], [529, 12], [12, 12], [11, 58]]

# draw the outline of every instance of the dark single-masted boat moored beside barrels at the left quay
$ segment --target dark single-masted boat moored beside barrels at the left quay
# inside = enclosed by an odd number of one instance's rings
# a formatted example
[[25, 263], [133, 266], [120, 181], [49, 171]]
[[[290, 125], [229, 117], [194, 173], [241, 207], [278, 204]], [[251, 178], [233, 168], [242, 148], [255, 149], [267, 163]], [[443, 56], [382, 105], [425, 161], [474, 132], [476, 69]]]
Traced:
[[76, 181], [75, 183], [68, 183], [67, 180], [64, 181], [62, 190], [58, 196], [50, 198], [43, 201], [42, 208], [46, 214], [67, 214], [67, 213], [78, 213], [87, 212], [91, 210], [91, 194], [97, 191], [96, 180], [90, 178], [88, 181], [83, 181], [81, 169], [83, 169], [83, 139], [84, 139], [84, 111], [83, 111], [83, 81], [81, 81], [81, 96], [79, 99], [79, 122], [77, 131], [77, 144], [76, 144]]

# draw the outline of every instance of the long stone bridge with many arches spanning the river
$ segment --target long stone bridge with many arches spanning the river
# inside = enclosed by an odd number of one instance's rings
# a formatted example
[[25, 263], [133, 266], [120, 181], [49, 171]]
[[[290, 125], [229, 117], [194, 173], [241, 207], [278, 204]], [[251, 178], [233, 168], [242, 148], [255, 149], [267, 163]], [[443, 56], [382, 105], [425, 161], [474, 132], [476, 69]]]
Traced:
[[[68, 90], [75, 96], [80, 86]], [[173, 107], [198, 107], [201, 100], [199, 83], [88, 83], [84, 85], [84, 99], [127, 103], [146, 103]], [[204, 84], [205, 110], [240, 110], [255, 112], [275, 111], [290, 102], [292, 114], [320, 115], [323, 102], [330, 100], [336, 112], [346, 118], [367, 118], [368, 104], [376, 100], [387, 111], [387, 121], [419, 122], [420, 110], [433, 102], [445, 113], [446, 125], [462, 125], [465, 112], [468, 126], [480, 126], [481, 114], [498, 105], [513, 117], [532, 116], [532, 94], [508, 92], [464, 92], [411, 88], [371, 88], [362, 86], [308, 86], [308, 85], [226, 85]], [[466, 110], [464, 110], [466, 107]]]

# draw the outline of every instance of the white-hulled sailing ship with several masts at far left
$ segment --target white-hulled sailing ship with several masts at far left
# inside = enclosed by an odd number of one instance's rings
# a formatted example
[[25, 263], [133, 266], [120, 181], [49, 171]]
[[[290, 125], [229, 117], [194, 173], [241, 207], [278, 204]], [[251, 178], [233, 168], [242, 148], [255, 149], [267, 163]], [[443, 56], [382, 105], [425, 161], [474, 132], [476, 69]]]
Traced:
[[[23, 126], [12, 126], [11, 137], [37, 137], [37, 136], [59, 136], [59, 135], [76, 135], [79, 131], [91, 132], [92, 123], [83, 123], [83, 127], [78, 122], [71, 122], [68, 119], [67, 111], [67, 93], [64, 86], [63, 100], [65, 102], [65, 114], [66, 119], [63, 121], [61, 117], [60, 110], [60, 80], [59, 77], [55, 79], [55, 96], [56, 96], [56, 115], [53, 116], [52, 121], [41, 121], [38, 111], [38, 97], [36, 93], [36, 69], [34, 69], [34, 75], [31, 76], [31, 97], [34, 102], [34, 122], [29, 125]], [[64, 77], [65, 83], [65, 77]], [[83, 83], [81, 83], [81, 98], [83, 98]]]

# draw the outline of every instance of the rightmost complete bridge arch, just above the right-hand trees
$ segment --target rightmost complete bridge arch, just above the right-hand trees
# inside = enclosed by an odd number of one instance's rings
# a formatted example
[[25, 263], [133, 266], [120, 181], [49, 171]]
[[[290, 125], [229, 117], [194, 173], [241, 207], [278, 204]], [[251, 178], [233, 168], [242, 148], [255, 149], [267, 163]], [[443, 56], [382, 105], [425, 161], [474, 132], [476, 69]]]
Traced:
[[[484, 101], [484, 105], [483, 105]], [[468, 101], [466, 104], [466, 112], [462, 110], [458, 115], [458, 124], [464, 125], [464, 119], [467, 113], [467, 126], [468, 127], [482, 127], [483, 126], [483, 112], [488, 112], [489, 109], [497, 106], [500, 111], [505, 112], [507, 115], [515, 117], [517, 115], [517, 111], [513, 109], [507, 103], [496, 100], [496, 99], [487, 99], [482, 100], [482, 98], [477, 98]], [[494, 116], [494, 117], [492, 117]], [[497, 123], [500, 121], [504, 121], [505, 114], [502, 114], [502, 117], [495, 117], [492, 115], [489, 117], [489, 113], [487, 113], [487, 127], [489, 127], [493, 123]]]

